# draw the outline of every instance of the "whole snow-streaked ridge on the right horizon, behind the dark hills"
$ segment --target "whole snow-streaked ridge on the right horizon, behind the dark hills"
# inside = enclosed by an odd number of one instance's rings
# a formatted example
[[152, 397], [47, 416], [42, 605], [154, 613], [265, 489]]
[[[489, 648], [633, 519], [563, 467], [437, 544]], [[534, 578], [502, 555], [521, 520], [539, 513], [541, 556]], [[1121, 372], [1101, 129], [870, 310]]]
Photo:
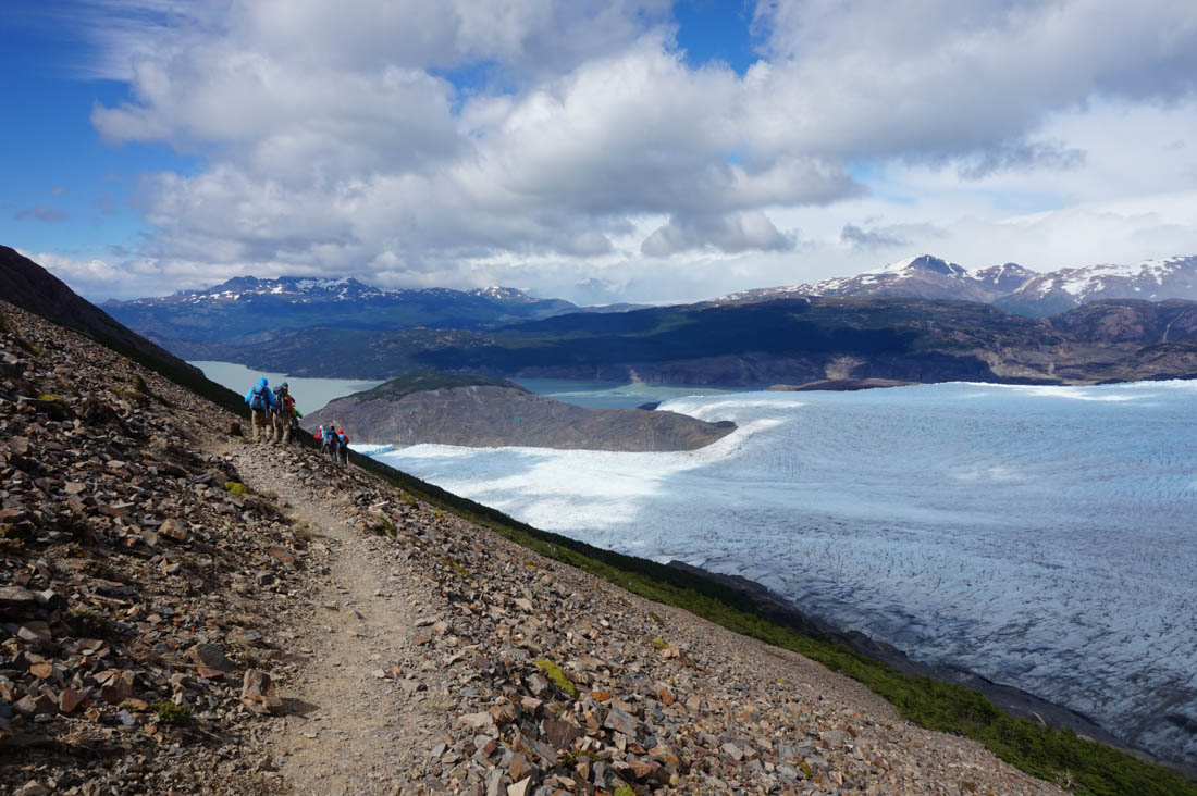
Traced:
[[970, 271], [920, 255], [856, 277], [765, 287], [717, 298], [712, 304], [761, 302], [798, 296], [876, 296], [994, 304], [1008, 312], [1046, 317], [1105, 299], [1197, 299], [1197, 256], [1098, 265], [1038, 273], [1013, 262]]

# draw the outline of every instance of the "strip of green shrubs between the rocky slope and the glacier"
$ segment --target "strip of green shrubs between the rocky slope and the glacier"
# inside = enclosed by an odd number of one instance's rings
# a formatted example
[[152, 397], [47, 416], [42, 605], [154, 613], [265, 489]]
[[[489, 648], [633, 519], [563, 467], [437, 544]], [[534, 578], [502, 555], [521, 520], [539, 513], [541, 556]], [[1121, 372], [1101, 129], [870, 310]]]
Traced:
[[776, 625], [755, 603], [710, 578], [648, 559], [593, 547], [537, 530], [487, 506], [396, 470], [366, 456], [353, 461], [385, 481], [485, 525], [541, 555], [576, 566], [649, 600], [683, 608], [723, 627], [818, 661], [888, 699], [904, 718], [984, 743], [998, 758], [1077, 794], [1193, 795], [1197, 785], [1163, 766], [1081, 739], [1070, 729], [1052, 730], [1002, 712], [980, 692], [930, 677], [905, 675], [843, 644], [828, 644]]

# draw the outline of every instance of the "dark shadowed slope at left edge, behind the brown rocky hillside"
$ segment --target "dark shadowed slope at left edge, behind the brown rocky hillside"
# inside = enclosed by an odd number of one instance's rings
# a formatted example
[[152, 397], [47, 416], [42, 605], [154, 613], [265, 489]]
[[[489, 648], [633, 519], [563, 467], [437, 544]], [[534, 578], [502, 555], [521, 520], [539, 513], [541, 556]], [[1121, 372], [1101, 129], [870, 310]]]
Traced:
[[110, 315], [80, 298], [62, 280], [8, 247], [0, 247], [0, 296], [47, 321], [122, 350], [122, 353], [141, 354], [193, 376], [202, 376], [199, 369], [121, 326]]

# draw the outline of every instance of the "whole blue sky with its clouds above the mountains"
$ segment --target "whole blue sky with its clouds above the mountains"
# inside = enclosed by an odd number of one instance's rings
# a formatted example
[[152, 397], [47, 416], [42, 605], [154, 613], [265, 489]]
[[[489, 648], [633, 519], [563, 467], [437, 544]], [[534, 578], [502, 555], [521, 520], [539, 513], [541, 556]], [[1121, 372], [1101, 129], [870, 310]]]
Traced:
[[0, 244], [694, 300], [1197, 254], [1197, 4], [6, 0]]

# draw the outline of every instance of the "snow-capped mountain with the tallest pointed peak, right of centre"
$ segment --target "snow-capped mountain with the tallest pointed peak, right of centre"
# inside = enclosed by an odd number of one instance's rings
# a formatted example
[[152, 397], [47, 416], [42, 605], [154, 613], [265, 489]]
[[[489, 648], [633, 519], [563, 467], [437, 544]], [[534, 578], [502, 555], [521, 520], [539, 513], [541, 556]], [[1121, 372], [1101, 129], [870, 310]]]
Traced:
[[792, 287], [766, 287], [733, 293], [725, 302], [760, 302], [794, 296], [897, 296], [989, 303], [1021, 286], [1034, 272], [1008, 262], [970, 272], [964, 266], [924, 254], [899, 260], [856, 277], [824, 279]]

